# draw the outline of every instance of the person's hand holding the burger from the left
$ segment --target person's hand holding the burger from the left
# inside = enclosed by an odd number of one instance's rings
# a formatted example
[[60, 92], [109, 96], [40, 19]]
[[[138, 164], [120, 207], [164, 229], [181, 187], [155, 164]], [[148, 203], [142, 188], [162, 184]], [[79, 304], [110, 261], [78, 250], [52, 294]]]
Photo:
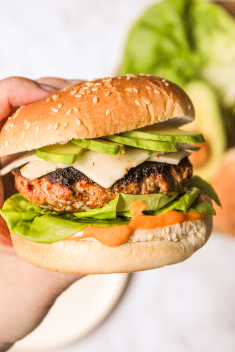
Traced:
[[[51, 93], [79, 81], [45, 77], [37, 81], [10, 77], [0, 81], [0, 129], [8, 115], [21, 105], [47, 98]], [[16, 156], [3, 157], [1, 167]], [[15, 193], [11, 175], [0, 179], [0, 207]], [[4, 193], [5, 192], [5, 193]], [[82, 275], [36, 268], [19, 258], [10, 233], [0, 216], [0, 352], [33, 331], [47, 315], [56, 298]]]

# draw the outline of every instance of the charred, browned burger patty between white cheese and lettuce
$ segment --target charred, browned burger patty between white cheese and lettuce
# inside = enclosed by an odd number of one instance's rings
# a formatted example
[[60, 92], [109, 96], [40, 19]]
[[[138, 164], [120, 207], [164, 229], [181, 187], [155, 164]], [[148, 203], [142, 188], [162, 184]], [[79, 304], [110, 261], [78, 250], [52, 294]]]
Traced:
[[[105, 170], [104, 170], [105, 172]], [[32, 181], [23, 177], [20, 169], [12, 170], [16, 189], [30, 202], [58, 212], [75, 212], [101, 208], [118, 193], [172, 195], [188, 187], [192, 164], [188, 157], [178, 165], [144, 162], [130, 169], [110, 188], [104, 188], [72, 166], [57, 169]]]

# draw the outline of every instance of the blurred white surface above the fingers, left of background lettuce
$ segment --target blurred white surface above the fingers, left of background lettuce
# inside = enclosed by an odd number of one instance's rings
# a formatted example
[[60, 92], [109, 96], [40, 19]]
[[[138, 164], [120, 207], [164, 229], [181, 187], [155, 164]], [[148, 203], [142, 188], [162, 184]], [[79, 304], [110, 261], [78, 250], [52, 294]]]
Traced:
[[152, 0], [0, 1], [0, 79], [116, 73], [131, 23]]

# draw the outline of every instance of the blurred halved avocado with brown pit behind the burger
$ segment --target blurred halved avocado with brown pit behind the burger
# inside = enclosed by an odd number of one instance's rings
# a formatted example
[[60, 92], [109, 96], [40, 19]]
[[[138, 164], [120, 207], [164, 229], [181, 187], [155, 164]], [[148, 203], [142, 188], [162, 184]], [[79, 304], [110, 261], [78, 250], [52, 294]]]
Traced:
[[217, 96], [208, 84], [194, 81], [184, 87], [195, 108], [195, 120], [184, 125], [184, 129], [202, 132], [206, 143], [202, 149], [190, 156], [194, 175], [211, 181], [226, 145], [225, 130], [219, 111]]

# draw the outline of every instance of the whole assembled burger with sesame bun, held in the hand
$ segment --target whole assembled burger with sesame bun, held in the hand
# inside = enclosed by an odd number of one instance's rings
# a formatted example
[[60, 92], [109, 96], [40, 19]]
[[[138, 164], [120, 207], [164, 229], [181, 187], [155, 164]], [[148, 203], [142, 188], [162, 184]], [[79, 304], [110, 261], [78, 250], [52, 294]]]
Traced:
[[179, 86], [144, 74], [82, 82], [20, 107], [0, 133], [0, 156], [18, 156], [0, 171], [19, 191], [0, 209], [18, 255], [78, 274], [190, 257], [212, 231], [211, 199], [219, 203], [192, 176], [188, 156], [204, 138], [179, 127], [193, 119]]

